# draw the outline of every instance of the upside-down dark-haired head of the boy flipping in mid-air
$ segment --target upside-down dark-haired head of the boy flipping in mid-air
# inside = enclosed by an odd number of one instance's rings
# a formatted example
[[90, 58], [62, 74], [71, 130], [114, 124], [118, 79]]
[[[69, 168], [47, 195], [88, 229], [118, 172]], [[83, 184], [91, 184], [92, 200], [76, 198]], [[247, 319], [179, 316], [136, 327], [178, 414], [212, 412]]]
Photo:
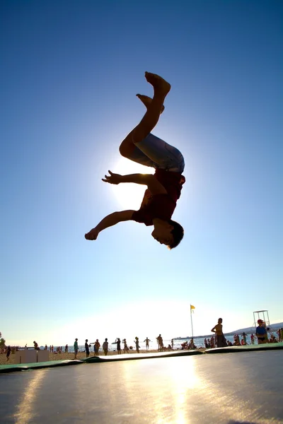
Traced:
[[166, 245], [171, 250], [178, 246], [183, 239], [184, 229], [182, 225], [173, 220], [155, 219], [154, 230], [151, 235], [157, 242], [161, 243], [161, 245]]

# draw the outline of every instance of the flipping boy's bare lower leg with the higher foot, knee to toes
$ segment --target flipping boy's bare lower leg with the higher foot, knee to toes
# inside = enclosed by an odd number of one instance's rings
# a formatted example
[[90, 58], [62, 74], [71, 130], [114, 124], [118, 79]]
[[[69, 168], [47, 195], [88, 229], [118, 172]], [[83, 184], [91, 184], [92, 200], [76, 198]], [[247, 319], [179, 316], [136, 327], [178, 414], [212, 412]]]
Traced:
[[163, 102], [171, 89], [171, 85], [155, 73], [146, 72], [145, 77], [146, 81], [154, 87], [154, 98], [141, 122], [127, 135], [120, 145], [121, 155], [129, 159], [134, 151], [134, 144], [145, 139], [156, 126], [163, 111]]

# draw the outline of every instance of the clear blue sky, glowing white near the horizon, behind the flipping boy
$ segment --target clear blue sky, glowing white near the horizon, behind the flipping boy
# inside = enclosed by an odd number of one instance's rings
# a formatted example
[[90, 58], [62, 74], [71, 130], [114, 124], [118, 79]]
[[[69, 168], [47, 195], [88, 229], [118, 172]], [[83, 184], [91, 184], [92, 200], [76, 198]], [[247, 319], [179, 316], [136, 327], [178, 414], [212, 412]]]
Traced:
[[[151, 340], [283, 321], [282, 1], [1, 2], [1, 326], [10, 344]], [[154, 172], [119, 145], [172, 85], [154, 134], [185, 156], [172, 251], [127, 222], [84, 239]]]

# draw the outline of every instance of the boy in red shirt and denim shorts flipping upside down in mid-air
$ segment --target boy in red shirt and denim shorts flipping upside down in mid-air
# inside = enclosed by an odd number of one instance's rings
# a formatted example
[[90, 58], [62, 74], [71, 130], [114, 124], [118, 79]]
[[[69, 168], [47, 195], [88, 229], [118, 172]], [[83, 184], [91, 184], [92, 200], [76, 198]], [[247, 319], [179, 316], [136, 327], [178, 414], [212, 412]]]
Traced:
[[183, 227], [171, 220], [177, 200], [185, 182], [182, 172], [185, 161], [177, 148], [151, 134], [164, 110], [163, 102], [171, 85], [161, 76], [145, 73], [146, 81], [154, 88], [154, 98], [146, 95], [137, 97], [144, 103], [146, 114], [141, 122], [127, 135], [120, 145], [120, 153], [125, 158], [155, 168], [155, 174], [118, 175], [111, 171], [104, 182], [120, 184], [134, 182], [147, 186], [139, 211], [114, 212], [106, 216], [88, 232], [86, 240], [96, 240], [98, 234], [121, 221], [134, 220], [145, 225], [154, 225], [151, 233], [154, 239], [169, 249], [178, 246], [183, 239]]

